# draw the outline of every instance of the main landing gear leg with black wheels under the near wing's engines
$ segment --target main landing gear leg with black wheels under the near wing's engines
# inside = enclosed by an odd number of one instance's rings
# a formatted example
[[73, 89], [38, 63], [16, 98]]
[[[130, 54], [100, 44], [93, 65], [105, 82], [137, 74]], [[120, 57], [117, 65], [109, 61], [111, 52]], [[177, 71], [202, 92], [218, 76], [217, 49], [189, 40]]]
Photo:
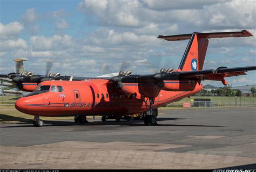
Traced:
[[147, 113], [144, 113], [144, 124], [145, 125], [157, 125], [157, 109], [153, 110], [153, 103], [154, 103], [154, 98], [149, 98], [150, 104], [148, 105], [146, 101], [144, 101], [146, 106], [149, 107], [149, 111]]

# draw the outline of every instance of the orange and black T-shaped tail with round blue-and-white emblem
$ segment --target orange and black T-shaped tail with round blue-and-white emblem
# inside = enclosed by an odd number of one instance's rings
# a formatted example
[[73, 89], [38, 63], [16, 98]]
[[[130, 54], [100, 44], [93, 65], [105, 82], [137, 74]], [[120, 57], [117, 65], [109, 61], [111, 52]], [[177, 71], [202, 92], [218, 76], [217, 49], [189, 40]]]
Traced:
[[252, 37], [253, 35], [242, 30], [241, 32], [211, 32], [199, 33], [193, 32], [192, 34], [180, 34], [163, 36], [159, 35], [158, 38], [167, 41], [179, 41], [189, 39], [186, 51], [179, 64], [179, 71], [202, 70], [205, 61], [205, 55], [210, 38], [230, 38], [230, 37]]

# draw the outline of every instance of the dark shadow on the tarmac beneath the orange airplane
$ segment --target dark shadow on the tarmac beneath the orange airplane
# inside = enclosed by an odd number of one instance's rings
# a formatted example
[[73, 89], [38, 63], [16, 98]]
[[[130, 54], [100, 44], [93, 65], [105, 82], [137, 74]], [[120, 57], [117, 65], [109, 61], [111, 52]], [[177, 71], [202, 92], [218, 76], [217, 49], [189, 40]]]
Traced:
[[[157, 121], [166, 121], [166, 120], [180, 120], [184, 118], [157, 118]], [[25, 123], [16, 123], [11, 126], [3, 126], [1, 128], [12, 128], [12, 127], [33, 127], [33, 121], [26, 121]], [[18, 124], [18, 125], [17, 125]], [[28, 125], [29, 124], [29, 125]], [[91, 121], [89, 123], [76, 124], [73, 121], [64, 121], [64, 120], [45, 120], [44, 127], [55, 127], [55, 126], [107, 126], [107, 125], [117, 125], [120, 127], [125, 126], [146, 126], [143, 123], [143, 120], [130, 120], [126, 121], [122, 119], [120, 121], [107, 120], [105, 122], [101, 120]], [[152, 126], [188, 126], [188, 127], [223, 127], [215, 125], [178, 125], [178, 124], [158, 124]]]

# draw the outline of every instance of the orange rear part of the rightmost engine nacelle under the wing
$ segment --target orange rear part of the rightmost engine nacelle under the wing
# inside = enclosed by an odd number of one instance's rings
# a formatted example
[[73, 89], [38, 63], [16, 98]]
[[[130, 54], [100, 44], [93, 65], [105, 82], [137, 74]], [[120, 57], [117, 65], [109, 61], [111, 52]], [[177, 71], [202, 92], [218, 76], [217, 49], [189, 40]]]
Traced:
[[192, 91], [196, 88], [197, 82], [194, 80], [184, 81], [164, 81], [162, 90], [166, 91]]

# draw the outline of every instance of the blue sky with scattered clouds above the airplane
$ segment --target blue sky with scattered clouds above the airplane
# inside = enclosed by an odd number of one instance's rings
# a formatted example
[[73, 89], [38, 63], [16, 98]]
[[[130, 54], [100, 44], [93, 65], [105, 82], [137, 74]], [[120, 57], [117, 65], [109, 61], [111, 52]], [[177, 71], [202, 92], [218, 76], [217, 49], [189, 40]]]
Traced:
[[[177, 69], [188, 41], [158, 35], [248, 30], [256, 35], [256, 1], [0, 0], [0, 73], [25, 69], [45, 74], [98, 76], [132, 70]], [[255, 66], [255, 37], [210, 39], [203, 69]], [[235, 87], [255, 84], [256, 72], [227, 78]], [[219, 81], [203, 84], [222, 86]]]

